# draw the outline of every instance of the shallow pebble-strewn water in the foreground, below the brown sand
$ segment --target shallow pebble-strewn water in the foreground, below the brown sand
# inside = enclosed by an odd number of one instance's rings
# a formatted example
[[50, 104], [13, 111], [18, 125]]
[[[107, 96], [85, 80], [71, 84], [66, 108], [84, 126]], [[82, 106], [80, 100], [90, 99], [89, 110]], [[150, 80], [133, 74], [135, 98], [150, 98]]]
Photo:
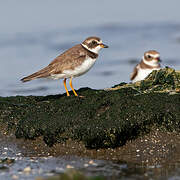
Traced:
[[[28, 152], [31, 153], [31, 152]], [[177, 180], [180, 176], [180, 159], [176, 162], [142, 166], [127, 162], [112, 162], [77, 156], [26, 157], [16, 144], [2, 141], [0, 160], [13, 159], [12, 163], [0, 163], [0, 179], [28, 179], [50, 177], [69, 169], [76, 169], [87, 176], [104, 176], [107, 179], [157, 179]]]

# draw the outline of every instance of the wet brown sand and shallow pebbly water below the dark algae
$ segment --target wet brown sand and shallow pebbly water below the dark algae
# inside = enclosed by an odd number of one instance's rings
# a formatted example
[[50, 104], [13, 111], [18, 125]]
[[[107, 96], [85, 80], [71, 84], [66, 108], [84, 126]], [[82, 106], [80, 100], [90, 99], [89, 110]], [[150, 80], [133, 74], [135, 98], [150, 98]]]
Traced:
[[15, 161], [0, 170], [0, 177], [5, 177], [3, 172], [8, 171], [7, 177], [34, 179], [73, 168], [89, 176], [102, 175], [108, 179], [167, 178], [180, 167], [177, 163], [179, 142], [179, 134], [155, 130], [123, 147], [94, 150], [72, 140], [48, 147], [41, 137], [24, 140], [1, 134], [1, 158]]

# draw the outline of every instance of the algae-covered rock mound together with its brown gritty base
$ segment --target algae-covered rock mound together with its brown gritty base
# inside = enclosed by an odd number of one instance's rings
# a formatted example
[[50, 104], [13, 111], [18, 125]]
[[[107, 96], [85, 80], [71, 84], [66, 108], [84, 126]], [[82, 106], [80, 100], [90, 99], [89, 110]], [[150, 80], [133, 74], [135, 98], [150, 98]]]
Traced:
[[144, 162], [150, 152], [152, 160], [179, 147], [180, 72], [165, 68], [135, 84], [78, 94], [0, 97], [1, 133], [36, 151], [114, 160], [142, 153]]

